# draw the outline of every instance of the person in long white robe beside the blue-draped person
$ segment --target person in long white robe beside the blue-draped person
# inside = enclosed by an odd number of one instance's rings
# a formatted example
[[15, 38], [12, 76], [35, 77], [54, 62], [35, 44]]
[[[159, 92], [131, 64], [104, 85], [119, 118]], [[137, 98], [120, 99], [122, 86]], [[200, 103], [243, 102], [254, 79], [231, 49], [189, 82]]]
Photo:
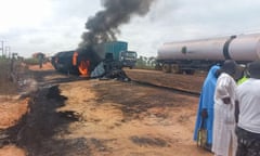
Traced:
[[227, 60], [219, 69], [214, 91], [214, 119], [212, 152], [214, 156], [235, 155], [235, 90], [238, 65], [233, 60]]

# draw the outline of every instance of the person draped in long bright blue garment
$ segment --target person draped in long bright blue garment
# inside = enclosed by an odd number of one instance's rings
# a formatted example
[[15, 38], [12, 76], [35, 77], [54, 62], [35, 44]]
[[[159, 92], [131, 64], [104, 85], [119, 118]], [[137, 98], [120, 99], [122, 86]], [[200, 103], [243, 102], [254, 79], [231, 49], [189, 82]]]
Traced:
[[[198, 140], [198, 130], [203, 127], [207, 130], [206, 150], [211, 150], [212, 144], [212, 127], [213, 127], [213, 104], [214, 89], [218, 79], [218, 70], [220, 66], [213, 65], [204, 81], [199, 104], [197, 109], [197, 119], [194, 130], [194, 141]], [[204, 121], [204, 123], [203, 123]]]

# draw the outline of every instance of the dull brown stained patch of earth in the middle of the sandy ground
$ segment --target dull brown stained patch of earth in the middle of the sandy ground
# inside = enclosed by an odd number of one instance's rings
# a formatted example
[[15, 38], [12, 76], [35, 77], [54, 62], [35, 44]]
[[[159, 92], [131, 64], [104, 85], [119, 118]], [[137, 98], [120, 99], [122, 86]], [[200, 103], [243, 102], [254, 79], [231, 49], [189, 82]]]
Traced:
[[[109, 86], [109, 88], [107, 88]], [[131, 121], [132, 119], [142, 119], [150, 116], [151, 108], [177, 108], [187, 105], [179, 94], [172, 94], [171, 91], [156, 91], [154, 88], [139, 87], [131, 82], [118, 83], [109, 81], [107, 84], [98, 86], [94, 88], [98, 92], [98, 102], [102, 105], [103, 102], [119, 103], [118, 106], [123, 113], [122, 121]], [[131, 92], [131, 93], [128, 93]], [[172, 94], [170, 96], [170, 94]], [[173, 98], [172, 98], [173, 96]], [[184, 98], [184, 96], [183, 96]], [[145, 115], [143, 115], [145, 114]], [[160, 118], [167, 118], [164, 112], [154, 114]]]

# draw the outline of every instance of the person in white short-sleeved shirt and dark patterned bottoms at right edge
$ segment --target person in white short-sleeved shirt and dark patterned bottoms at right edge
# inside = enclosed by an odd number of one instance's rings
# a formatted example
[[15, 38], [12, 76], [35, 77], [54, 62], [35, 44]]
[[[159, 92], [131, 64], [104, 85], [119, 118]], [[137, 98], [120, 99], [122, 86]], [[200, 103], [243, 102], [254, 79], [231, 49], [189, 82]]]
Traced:
[[260, 61], [248, 65], [250, 78], [237, 87], [236, 156], [260, 156]]

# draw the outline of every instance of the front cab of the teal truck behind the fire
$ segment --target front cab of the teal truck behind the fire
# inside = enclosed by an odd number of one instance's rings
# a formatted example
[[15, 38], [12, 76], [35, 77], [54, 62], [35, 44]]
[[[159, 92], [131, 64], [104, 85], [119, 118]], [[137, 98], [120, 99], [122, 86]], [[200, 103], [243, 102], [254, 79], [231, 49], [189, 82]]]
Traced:
[[119, 62], [122, 67], [133, 68], [135, 66], [138, 53], [135, 51], [121, 51], [119, 53]]

